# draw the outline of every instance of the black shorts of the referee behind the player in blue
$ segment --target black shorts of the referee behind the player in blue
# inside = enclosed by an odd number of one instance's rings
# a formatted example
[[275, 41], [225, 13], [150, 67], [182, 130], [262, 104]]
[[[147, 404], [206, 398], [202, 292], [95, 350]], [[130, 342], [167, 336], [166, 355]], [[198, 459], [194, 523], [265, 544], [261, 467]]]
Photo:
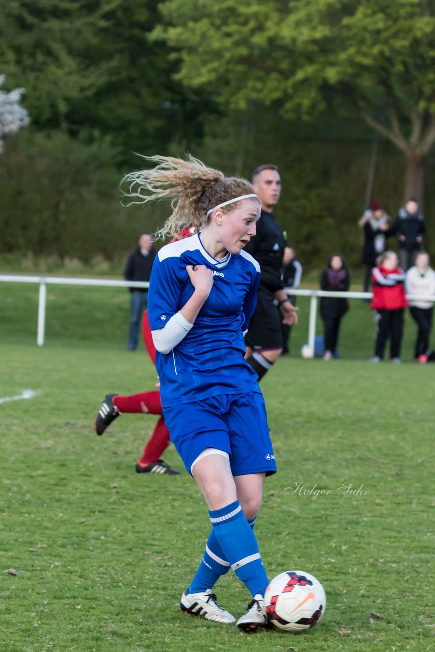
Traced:
[[273, 303], [274, 298], [273, 292], [267, 288], [258, 288], [257, 306], [245, 336], [246, 346], [256, 351], [282, 349], [282, 317]]

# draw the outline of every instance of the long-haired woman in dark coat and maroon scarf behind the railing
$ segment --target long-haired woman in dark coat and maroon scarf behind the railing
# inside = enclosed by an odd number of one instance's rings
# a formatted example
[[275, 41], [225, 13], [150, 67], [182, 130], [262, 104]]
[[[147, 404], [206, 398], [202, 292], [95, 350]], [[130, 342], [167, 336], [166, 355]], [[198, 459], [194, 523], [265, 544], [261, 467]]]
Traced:
[[[350, 286], [350, 276], [344, 258], [333, 254], [320, 277], [320, 289], [332, 292], [346, 292]], [[338, 342], [340, 321], [349, 309], [348, 300], [341, 297], [322, 297], [320, 314], [325, 327], [325, 355], [323, 360], [331, 360]]]

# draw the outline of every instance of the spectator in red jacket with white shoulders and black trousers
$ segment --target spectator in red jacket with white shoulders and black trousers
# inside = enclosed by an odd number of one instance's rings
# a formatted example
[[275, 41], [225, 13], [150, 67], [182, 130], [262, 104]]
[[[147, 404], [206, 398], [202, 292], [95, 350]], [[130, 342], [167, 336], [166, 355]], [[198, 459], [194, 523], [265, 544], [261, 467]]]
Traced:
[[405, 274], [398, 267], [397, 254], [386, 251], [372, 269], [373, 298], [370, 308], [375, 310], [378, 327], [372, 363], [383, 360], [385, 344], [390, 338], [390, 362], [400, 363], [404, 308], [408, 307], [404, 289]]

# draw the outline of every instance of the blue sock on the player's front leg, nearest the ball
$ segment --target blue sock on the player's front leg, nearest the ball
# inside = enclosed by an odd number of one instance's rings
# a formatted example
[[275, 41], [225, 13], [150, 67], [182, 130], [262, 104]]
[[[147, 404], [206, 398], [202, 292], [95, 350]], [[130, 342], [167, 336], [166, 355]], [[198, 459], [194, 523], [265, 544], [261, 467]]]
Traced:
[[264, 595], [269, 584], [252, 528], [243, 514], [239, 501], [209, 511], [211, 524], [220, 549], [239, 580], [250, 593]]

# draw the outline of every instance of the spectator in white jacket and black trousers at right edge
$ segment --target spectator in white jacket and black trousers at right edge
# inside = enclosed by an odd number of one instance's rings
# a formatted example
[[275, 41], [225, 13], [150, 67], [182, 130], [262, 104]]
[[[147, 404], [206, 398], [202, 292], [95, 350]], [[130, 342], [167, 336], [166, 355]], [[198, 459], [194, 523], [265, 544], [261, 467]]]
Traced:
[[[415, 259], [415, 267], [406, 273], [406, 291], [408, 294], [435, 295], [435, 272], [429, 267], [429, 256], [420, 252]], [[415, 360], [427, 363], [430, 331], [432, 329], [433, 301], [410, 300], [412, 318], [417, 323], [418, 333], [415, 341]]]

